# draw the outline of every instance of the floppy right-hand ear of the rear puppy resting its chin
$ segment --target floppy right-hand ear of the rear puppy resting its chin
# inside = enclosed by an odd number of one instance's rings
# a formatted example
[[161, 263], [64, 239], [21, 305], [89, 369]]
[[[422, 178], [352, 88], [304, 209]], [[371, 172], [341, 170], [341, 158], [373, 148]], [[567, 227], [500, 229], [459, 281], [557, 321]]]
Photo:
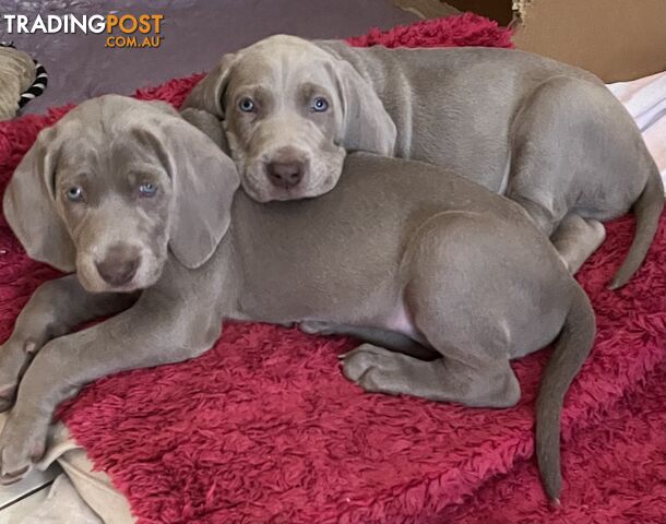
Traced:
[[392, 156], [397, 131], [374, 88], [344, 60], [336, 60], [342, 102], [342, 145], [347, 151], [367, 151]]

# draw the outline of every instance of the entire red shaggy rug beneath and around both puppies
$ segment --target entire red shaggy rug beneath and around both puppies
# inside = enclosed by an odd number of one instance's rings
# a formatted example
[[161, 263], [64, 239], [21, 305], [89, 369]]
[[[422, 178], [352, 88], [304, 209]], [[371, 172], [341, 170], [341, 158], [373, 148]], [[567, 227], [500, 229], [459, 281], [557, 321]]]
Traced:
[[[508, 32], [473, 15], [352, 41], [510, 47]], [[178, 105], [200, 78], [138, 96]], [[0, 124], [1, 188], [64, 111]], [[609, 291], [632, 230], [629, 217], [609, 224], [580, 273], [598, 335], [562, 416], [559, 512], [548, 510], [532, 460], [547, 349], [515, 362], [519, 406], [472, 409], [362, 393], [338, 369], [352, 341], [230, 324], [202, 357], [100, 380], [60, 415], [146, 524], [662, 522], [666, 215], [637, 277]], [[0, 221], [1, 340], [53, 275]]]

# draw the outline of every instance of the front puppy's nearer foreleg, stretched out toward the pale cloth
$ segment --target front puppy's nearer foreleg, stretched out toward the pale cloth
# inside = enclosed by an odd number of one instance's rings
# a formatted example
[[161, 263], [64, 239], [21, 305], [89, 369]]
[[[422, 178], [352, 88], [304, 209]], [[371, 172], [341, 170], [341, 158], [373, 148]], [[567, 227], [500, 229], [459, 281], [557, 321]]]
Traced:
[[153, 291], [144, 291], [129, 310], [41, 348], [21, 380], [0, 434], [0, 483], [19, 480], [44, 454], [56, 407], [85, 383], [181, 361], [211, 347], [222, 325], [211, 300], [198, 303], [178, 293]]

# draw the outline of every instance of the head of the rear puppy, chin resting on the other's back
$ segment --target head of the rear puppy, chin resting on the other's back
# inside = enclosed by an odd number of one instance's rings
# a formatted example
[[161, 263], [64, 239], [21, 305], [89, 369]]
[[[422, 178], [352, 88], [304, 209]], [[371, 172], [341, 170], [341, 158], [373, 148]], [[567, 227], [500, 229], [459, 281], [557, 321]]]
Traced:
[[346, 151], [389, 155], [396, 136], [352, 66], [284, 35], [225, 55], [183, 107], [224, 119], [243, 189], [260, 202], [323, 194], [337, 182]]

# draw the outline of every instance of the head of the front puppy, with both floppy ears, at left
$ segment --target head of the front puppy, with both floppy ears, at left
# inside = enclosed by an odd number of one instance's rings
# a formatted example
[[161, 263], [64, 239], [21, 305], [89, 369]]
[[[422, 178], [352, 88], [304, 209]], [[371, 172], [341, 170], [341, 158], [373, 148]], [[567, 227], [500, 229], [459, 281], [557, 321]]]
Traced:
[[231, 160], [168, 105], [108, 95], [39, 133], [3, 206], [34, 259], [91, 291], [133, 291], [159, 278], [169, 249], [188, 267], [207, 260], [238, 184]]

